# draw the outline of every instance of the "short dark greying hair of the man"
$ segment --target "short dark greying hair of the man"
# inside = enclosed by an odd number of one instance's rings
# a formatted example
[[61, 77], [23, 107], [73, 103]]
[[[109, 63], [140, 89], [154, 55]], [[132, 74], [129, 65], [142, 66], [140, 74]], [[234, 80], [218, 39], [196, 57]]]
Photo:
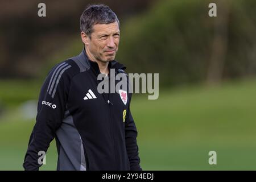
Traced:
[[90, 37], [94, 24], [109, 24], [119, 20], [117, 15], [106, 5], [89, 5], [80, 17], [80, 31], [85, 32]]

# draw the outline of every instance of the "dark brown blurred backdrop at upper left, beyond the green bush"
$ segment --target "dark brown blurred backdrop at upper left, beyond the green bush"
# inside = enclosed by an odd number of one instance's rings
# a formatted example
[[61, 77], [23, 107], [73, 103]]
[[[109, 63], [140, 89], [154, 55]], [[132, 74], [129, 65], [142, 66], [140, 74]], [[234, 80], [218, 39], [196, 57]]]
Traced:
[[151, 1], [45, 0], [43, 18], [38, 16], [42, 1], [0, 1], [0, 77], [35, 77], [48, 57], [79, 38], [80, 15], [89, 3], [105, 3], [119, 19], [126, 19]]

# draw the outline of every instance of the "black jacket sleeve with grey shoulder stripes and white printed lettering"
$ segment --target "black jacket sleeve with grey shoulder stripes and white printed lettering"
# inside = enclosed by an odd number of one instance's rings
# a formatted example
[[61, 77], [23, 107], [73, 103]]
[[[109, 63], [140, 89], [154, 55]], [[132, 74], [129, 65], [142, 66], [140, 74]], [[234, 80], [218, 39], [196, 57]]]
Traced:
[[55, 131], [61, 125], [68, 99], [67, 69], [70, 67], [65, 62], [56, 65], [44, 81], [39, 95], [36, 123], [24, 158], [25, 170], [38, 170], [42, 166], [38, 162], [42, 156], [39, 151], [47, 152], [49, 144], [55, 138]]

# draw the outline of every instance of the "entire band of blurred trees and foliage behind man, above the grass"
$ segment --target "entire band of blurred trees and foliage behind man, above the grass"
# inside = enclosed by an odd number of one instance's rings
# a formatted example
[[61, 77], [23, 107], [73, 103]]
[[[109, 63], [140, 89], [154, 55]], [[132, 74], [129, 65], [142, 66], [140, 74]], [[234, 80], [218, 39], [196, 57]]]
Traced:
[[[35, 77], [46, 60], [79, 53], [79, 17], [88, 2], [48, 0], [47, 17], [39, 18], [39, 1], [1, 1], [0, 77]], [[117, 60], [129, 72], [160, 73], [162, 85], [255, 75], [256, 1], [215, 1], [217, 17], [208, 16], [210, 2], [105, 1], [121, 19]]]

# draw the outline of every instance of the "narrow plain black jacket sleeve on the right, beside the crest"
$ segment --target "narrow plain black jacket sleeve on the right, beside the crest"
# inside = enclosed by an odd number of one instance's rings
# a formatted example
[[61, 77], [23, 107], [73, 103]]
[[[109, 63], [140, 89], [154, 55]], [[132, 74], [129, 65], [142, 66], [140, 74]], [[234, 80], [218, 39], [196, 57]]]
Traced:
[[140, 158], [139, 158], [139, 149], [137, 145], [137, 128], [134, 123], [133, 116], [130, 111], [130, 101], [131, 94], [129, 99], [129, 108], [127, 112], [127, 120], [125, 126], [125, 140], [126, 140], [126, 150], [130, 161], [131, 171], [141, 171]]

